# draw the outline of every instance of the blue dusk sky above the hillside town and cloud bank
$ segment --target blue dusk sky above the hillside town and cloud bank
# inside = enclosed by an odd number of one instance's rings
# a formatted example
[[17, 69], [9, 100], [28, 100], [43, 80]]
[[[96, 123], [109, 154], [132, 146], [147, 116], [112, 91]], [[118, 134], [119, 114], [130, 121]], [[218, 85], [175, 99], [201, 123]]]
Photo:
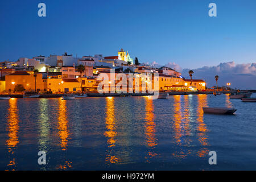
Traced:
[[[46, 3], [46, 17], [38, 3]], [[210, 2], [217, 17], [208, 16]], [[0, 60], [64, 52], [200, 68], [256, 59], [256, 1], [1, 1]]]

